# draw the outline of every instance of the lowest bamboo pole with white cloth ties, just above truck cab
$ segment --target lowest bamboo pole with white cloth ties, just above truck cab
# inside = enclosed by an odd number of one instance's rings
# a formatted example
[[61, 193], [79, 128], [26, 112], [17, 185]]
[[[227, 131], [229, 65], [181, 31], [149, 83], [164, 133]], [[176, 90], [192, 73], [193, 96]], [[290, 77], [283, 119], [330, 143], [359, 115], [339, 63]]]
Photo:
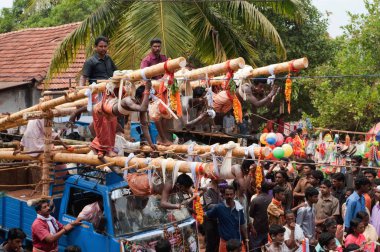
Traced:
[[[42, 156], [32, 157], [27, 154], [17, 154], [13, 155], [13, 151], [0, 151], [0, 159], [6, 160], [42, 160]], [[127, 157], [105, 157], [107, 163], [115, 163], [116, 166], [125, 167], [125, 160]], [[53, 162], [61, 163], [82, 163], [89, 165], [102, 165], [103, 163], [98, 159], [97, 155], [86, 155], [86, 154], [75, 154], [75, 153], [55, 153], [52, 154], [51, 160]], [[146, 163], [146, 158], [137, 158], [134, 157], [128, 162], [128, 166], [137, 165], [138, 168], [143, 169], [147, 168], [148, 164]], [[153, 158], [151, 159], [151, 165], [154, 167], [160, 168], [162, 165], [163, 158]], [[174, 159], [167, 159], [166, 170], [172, 171], [176, 164], [179, 164], [180, 172], [191, 172], [191, 166], [194, 162], [180, 161]], [[208, 171], [211, 167], [209, 163], [195, 162], [196, 167], [198, 167], [198, 172], [203, 174], [205, 171]], [[202, 167], [202, 168], [199, 168]]]

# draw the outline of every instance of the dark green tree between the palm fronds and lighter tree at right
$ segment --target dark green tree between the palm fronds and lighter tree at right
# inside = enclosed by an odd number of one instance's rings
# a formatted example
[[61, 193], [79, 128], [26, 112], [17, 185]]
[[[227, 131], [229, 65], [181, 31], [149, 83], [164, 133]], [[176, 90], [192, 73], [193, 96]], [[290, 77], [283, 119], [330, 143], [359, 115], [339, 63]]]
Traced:
[[[309, 67], [302, 70], [299, 76], [305, 76], [312, 73], [313, 69], [321, 64], [332, 60], [338, 44], [334, 39], [331, 39], [327, 33], [328, 20], [323, 17], [322, 13], [312, 5], [310, 0], [302, 1], [302, 9], [305, 12], [306, 18], [303, 22], [289, 19], [286, 16], [278, 15], [272, 10], [263, 10], [265, 16], [276, 27], [286, 48], [286, 58], [278, 57], [276, 48], [265, 43], [260, 36], [254, 34], [252, 40], [257, 47], [259, 53], [259, 65], [265, 66], [285, 60], [307, 57]], [[284, 75], [279, 75], [282, 77]], [[272, 108], [262, 108], [261, 112], [265, 113], [268, 118], [275, 118], [279, 115], [280, 103], [285, 100], [284, 85], [285, 80], [277, 82], [281, 86], [281, 93], [275, 100]], [[292, 110], [289, 115], [287, 112], [286, 120], [294, 121], [302, 117], [302, 113], [315, 113], [315, 108], [310, 100], [308, 90], [302, 80], [293, 80], [292, 87]], [[285, 108], [285, 111], [287, 109]]]

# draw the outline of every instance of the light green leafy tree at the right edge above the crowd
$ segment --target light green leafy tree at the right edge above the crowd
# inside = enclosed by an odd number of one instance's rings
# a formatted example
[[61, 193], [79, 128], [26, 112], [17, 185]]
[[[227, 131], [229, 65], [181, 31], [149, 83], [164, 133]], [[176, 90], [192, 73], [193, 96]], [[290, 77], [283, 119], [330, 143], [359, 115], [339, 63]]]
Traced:
[[[366, 2], [368, 15], [350, 15], [338, 38], [340, 50], [315, 75], [380, 73], [380, 1]], [[380, 120], [380, 78], [331, 78], [305, 81], [316, 113], [316, 126], [366, 131]]]

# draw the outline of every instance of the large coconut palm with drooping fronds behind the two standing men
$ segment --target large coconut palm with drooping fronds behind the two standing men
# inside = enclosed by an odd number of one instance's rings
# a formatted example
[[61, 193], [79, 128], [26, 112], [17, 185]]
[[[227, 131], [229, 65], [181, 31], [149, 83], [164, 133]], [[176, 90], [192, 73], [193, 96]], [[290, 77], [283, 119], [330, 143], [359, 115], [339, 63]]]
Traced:
[[91, 54], [99, 35], [110, 38], [110, 53], [120, 69], [138, 68], [152, 38], [163, 41], [162, 52], [171, 58], [192, 57], [212, 64], [242, 56], [254, 65], [258, 55], [252, 36], [262, 36], [284, 58], [281, 38], [260, 10], [271, 8], [302, 20], [300, 1], [105, 0], [61, 42], [49, 75], [65, 69], [80, 50]]

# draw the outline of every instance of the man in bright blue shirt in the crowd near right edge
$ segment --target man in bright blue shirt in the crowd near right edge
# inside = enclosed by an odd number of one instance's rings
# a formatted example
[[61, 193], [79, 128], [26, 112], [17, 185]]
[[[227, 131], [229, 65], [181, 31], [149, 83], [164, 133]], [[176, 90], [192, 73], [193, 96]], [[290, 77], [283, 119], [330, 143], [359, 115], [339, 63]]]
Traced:
[[350, 221], [356, 214], [365, 210], [365, 199], [363, 194], [369, 191], [371, 182], [366, 177], [358, 177], [355, 180], [355, 192], [346, 201], [346, 215], [344, 217], [344, 227], [350, 227]]

